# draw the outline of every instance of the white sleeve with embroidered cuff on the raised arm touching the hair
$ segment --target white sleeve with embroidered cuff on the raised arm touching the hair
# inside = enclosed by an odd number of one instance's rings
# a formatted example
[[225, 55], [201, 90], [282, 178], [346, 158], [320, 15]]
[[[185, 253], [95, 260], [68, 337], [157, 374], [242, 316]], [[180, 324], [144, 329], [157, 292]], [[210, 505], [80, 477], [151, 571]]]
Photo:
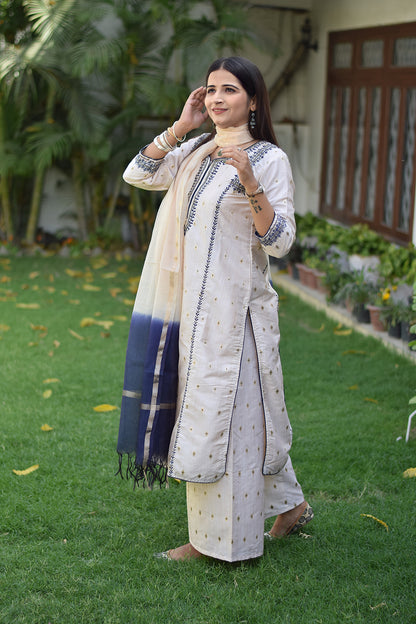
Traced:
[[143, 148], [127, 166], [123, 173], [123, 180], [138, 188], [166, 191], [182, 161], [203, 141], [205, 136], [190, 139], [166, 154], [164, 158], [159, 159], [145, 156], [143, 154], [145, 148]]

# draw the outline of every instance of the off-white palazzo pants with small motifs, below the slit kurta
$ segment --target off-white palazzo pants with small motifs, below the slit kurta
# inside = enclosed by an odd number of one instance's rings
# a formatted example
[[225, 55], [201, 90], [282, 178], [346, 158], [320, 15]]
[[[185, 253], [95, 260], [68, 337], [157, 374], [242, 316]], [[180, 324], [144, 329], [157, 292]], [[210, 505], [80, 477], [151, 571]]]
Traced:
[[216, 483], [187, 483], [189, 540], [204, 555], [225, 561], [260, 557], [264, 520], [302, 501], [290, 457], [264, 476], [264, 415], [253, 330], [247, 317], [241, 373], [224, 476]]

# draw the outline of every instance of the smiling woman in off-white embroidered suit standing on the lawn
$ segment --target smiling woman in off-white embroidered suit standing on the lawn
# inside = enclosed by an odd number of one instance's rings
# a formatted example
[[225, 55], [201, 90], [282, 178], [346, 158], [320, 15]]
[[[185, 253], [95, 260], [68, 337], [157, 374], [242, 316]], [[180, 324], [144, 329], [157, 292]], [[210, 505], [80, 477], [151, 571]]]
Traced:
[[[185, 142], [208, 117], [213, 134]], [[274, 539], [313, 512], [288, 455], [268, 262], [295, 238], [293, 182], [258, 68], [215, 61], [124, 179], [168, 192], [133, 310], [120, 458], [137, 481], [187, 482], [190, 541], [161, 556], [259, 557], [265, 518]]]

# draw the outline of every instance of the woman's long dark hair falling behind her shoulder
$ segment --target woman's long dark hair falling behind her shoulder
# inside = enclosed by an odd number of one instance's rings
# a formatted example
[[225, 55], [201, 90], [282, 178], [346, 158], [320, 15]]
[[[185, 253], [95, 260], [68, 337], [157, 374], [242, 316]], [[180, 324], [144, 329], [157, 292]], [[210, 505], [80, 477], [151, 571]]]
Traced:
[[249, 131], [253, 139], [269, 141], [277, 145], [270, 113], [269, 94], [259, 68], [242, 56], [219, 58], [209, 67], [205, 84], [208, 84], [209, 75], [218, 69], [225, 69], [230, 74], [233, 74], [241, 82], [249, 98], [256, 98], [256, 125], [254, 128], [250, 128], [249, 125]]

